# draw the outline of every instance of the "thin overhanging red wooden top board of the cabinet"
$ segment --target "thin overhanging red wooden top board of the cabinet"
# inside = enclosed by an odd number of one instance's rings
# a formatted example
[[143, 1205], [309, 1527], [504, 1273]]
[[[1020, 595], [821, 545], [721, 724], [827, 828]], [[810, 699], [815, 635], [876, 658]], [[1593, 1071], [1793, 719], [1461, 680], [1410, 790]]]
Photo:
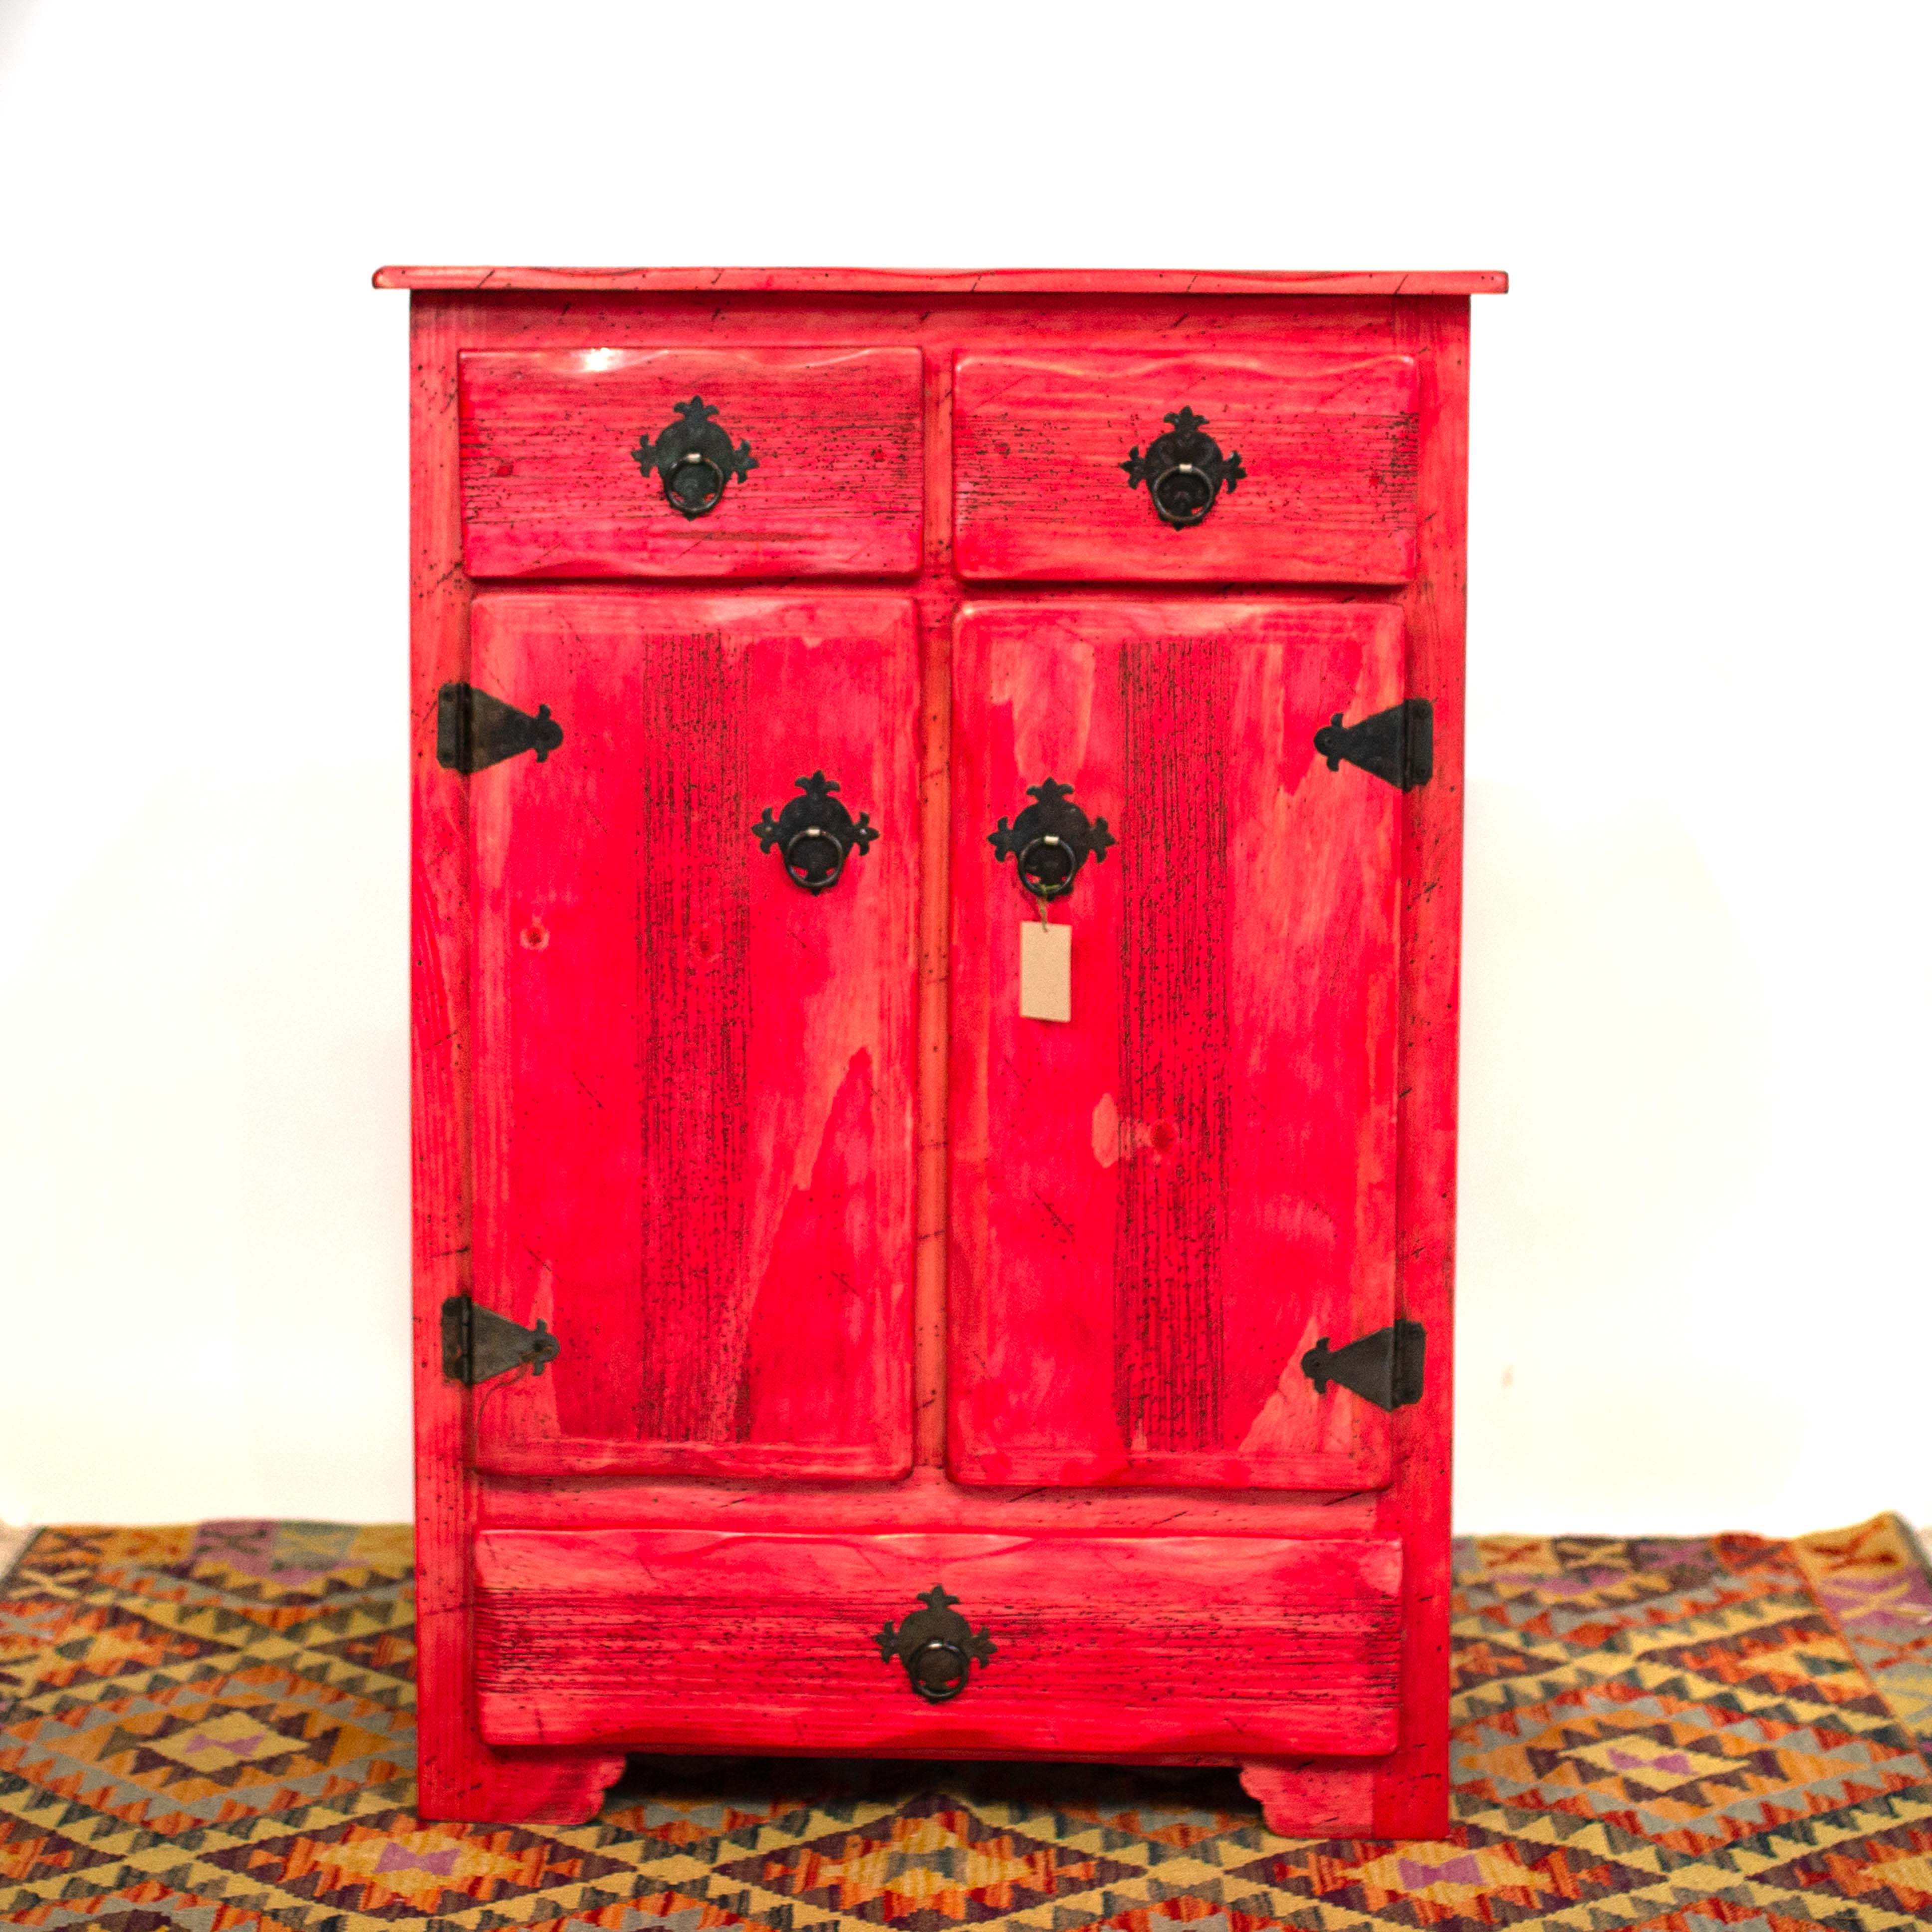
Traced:
[[375, 288], [815, 296], [1501, 296], [1499, 269], [377, 269]]

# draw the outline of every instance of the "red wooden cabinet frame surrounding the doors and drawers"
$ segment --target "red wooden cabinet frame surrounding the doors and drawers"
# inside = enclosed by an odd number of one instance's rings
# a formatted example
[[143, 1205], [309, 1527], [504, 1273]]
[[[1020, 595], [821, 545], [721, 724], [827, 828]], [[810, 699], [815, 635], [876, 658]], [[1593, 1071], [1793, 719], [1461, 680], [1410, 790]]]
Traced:
[[[1403, 1542], [1401, 1743], [1370, 1762], [1248, 1766], [1277, 1830], [1412, 1837], [1447, 1818], [1449, 1420], [1461, 923], [1463, 634], [1468, 292], [1499, 276], [871, 276], [786, 278], [624, 270], [384, 270], [412, 286], [412, 1124], [417, 1432], [417, 1604], [425, 1818], [576, 1822], [622, 1770], [611, 1750], [491, 1748], [471, 1683], [471, 1548], [483, 1528], [730, 1522], [771, 1530], [1003, 1528], [1397, 1536]], [[684, 280], [678, 280], [684, 274]], [[655, 276], [655, 278], [653, 278]], [[668, 280], [668, 286], [667, 286]], [[1418, 292], [1424, 288], [1443, 292]], [[1320, 292], [1316, 292], [1320, 290]], [[1397, 294], [1397, 290], [1405, 290]], [[1410, 694], [1434, 703], [1435, 769], [1403, 800], [1397, 1121], [1397, 1314], [1428, 1329], [1424, 1399], [1393, 1416], [1395, 1480], [1368, 1495], [1281, 1492], [962, 1492], [943, 1472], [949, 690], [958, 607], [987, 597], [951, 558], [951, 367], [972, 346], [1374, 346], [1420, 369], [1418, 566], [1406, 585], [1350, 585], [1399, 603]], [[920, 1182], [914, 1281], [914, 1472], [900, 1484], [771, 1486], [701, 1478], [516, 1478], [469, 1466], [479, 1391], [446, 1379], [442, 1306], [471, 1293], [468, 784], [437, 761], [437, 694], [469, 670], [462, 568], [456, 357], [466, 348], [657, 344], [916, 344], [925, 352], [922, 568]], [[657, 580], [668, 587], [678, 580]], [[904, 587], [893, 580], [891, 587]], [[871, 580], [850, 580], [860, 589]], [[692, 587], [699, 587], [692, 583]], [[715, 580], [701, 585], [715, 587]], [[753, 589], [757, 585], [746, 585]], [[887, 587], [879, 582], [877, 587]], [[1219, 593], [1208, 589], [1206, 595]], [[1202, 585], [1028, 583], [1024, 595], [1159, 595]], [[1323, 585], [1244, 583], [1227, 595], [1333, 599]], [[1337, 1343], [1345, 1337], [1337, 1337]], [[1179, 1513], [1179, 1515], [1177, 1515]], [[1227, 1760], [1213, 1760], [1227, 1762]]]

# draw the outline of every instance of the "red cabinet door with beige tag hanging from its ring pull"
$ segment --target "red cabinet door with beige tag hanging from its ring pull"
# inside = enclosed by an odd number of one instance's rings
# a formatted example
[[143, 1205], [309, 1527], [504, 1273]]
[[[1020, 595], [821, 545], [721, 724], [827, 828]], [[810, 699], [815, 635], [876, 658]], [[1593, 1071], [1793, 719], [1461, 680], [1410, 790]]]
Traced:
[[[1399, 609], [989, 603], [954, 697], [954, 1476], [1385, 1484], [1302, 1356], [1393, 1320], [1403, 794], [1314, 734], [1401, 701]], [[1117, 840], [1051, 906], [1066, 1020], [989, 842], [1047, 779]]]

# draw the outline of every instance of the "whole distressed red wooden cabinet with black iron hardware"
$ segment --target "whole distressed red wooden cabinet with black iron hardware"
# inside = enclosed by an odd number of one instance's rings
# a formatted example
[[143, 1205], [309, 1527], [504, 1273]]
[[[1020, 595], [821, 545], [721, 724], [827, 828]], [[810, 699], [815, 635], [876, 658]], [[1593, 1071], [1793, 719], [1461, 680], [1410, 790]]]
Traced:
[[871, 1750], [1439, 1830], [1501, 278], [379, 282], [423, 1814]]

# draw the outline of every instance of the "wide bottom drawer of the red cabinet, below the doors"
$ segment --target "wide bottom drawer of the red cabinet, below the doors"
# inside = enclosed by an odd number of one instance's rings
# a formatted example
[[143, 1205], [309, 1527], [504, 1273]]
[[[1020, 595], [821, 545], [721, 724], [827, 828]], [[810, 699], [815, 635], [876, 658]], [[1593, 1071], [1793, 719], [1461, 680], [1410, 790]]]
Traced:
[[1378, 1756], [1401, 1578], [1381, 1538], [485, 1530], [477, 1702], [493, 1745]]

